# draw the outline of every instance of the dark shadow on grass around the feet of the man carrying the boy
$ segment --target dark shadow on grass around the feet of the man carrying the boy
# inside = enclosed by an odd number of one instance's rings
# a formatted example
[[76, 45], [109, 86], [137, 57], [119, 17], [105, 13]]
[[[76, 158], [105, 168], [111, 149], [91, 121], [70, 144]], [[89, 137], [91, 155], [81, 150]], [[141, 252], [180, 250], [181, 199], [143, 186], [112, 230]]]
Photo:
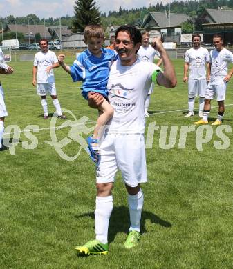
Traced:
[[[91, 217], [92, 219], [95, 219], [94, 212], [88, 212], [82, 215], [75, 215], [75, 218], [77, 219], [81, 217]], [[142, 234], [147, 232], [145, 228], [145, 222], [147, 219], [149, 219], [151, 223], [158, 224], [162, 227], [171, 227], [171, 223], [169, 223], [168, 221], [161, 219], [160, 217], [154, 215], [151, 212], [142, 210], [142, 219], [140, 223]], [[116, 206], [113, 208], [113, 212], [109, 221], [109, 243], [114, 240], [115, 235], [117, 235], [118, 232], [125, 232], [126, 234], [129, 232], [129, 208], [127, 208], [126, 206]]]

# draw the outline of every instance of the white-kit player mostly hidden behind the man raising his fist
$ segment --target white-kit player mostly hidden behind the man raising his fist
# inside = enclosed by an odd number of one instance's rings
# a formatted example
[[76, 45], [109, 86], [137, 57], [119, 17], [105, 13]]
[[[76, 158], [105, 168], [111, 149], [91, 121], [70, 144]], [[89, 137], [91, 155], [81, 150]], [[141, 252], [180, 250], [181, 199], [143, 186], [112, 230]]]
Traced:
[[[162, 59], [160, 59], [160, 53], [158, 50], [155, 50], [151, 45], [149, 45], [149, 32], [142, 32], [142, 46], [140, 46], [140, 49], [137, 52], [138, 59], [153, 63], [155, 56], [159, 58], [158, 63], [156, 64], [157, 66], [160, 66], [162, 64]], [[154, 83], [152, 82], [145, 101], [145, 117], [149, 117], [148, 108], [153, 88]]]

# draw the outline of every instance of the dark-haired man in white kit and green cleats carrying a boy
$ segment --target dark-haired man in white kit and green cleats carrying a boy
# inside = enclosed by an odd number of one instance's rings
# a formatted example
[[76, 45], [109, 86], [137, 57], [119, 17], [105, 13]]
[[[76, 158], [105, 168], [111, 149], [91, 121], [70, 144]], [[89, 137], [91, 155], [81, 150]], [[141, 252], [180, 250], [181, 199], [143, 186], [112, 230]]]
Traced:
[[[111, 190], [118, 169], [127, 188], [130, 215], [129, 235], [124, 247], [132, 248], [139, 243], [144, 200], [140, 183], [147, 182], [144, 103], [152, 81], [166, 88], [176, 86], [174, 67], [160, 39], [154, 39], [152, 46], [160, 52], [164, 73], [154, 63], [136, 58], [142, 36], [135, 26], [121, 26], [115, 37], [115, 48], [120, 59], [113, 62], [107, 85], [114, 114], [100, 145], [101, 158], [96, 171], [96, 237], [75, 248], [85, 255], [106, 254], [109, 250], [108, 228], [113, 210]], [[88, 101], [90, 106], [96, 107], [100, 106], [103, 98], [96, 92], [90, 92]]]

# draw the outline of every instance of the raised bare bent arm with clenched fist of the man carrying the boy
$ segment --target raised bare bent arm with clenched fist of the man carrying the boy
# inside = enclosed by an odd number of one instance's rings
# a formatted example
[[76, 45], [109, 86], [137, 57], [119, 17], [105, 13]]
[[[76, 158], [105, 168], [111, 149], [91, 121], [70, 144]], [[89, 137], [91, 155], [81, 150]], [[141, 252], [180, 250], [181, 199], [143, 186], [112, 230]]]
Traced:
[[171, 63], [165, 48], [163, 48], [160, 38], [155, 37], [151, 46], [160, 53], [164, 68], [164, 72], [159, 72], [156, 77], [157, 83], [166, 88], [176, 87], [177, 80], [174, 66]]

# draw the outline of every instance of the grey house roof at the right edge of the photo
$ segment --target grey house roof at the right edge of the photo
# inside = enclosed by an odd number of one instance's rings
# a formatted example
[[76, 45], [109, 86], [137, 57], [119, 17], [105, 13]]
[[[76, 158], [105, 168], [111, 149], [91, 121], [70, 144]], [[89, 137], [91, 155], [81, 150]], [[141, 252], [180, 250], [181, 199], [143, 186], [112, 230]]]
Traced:
[[201, 15], [201, 17], [205, 17], [209, 15], [210, 23], [231, 23], [233, 22], [233, 10], [214, 10], [211, 8], [206, 8], [205, 12]]

